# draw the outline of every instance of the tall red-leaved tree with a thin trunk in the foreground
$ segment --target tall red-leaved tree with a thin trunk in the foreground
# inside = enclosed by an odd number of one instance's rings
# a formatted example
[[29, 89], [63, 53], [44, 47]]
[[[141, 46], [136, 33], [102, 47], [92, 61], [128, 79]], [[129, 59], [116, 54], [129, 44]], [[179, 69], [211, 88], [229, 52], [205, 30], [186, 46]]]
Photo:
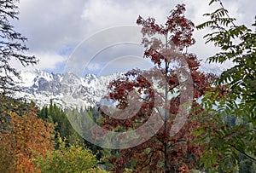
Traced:
[[[203, 152], [201, 144], [195, 146], [191, 142], [196, 137], [191, 131], [201, 125], [191, 118], [203, 111], [197, 100], [214, 76], [199, 72], [200, 62], [194, 54], [187, 53], [187, 48], [195, 43], [194, 24], [184, 17], [184, 12], [184, 4], [177, 5], [165, 25], [156, 24], [154, 18], [137, 19], [137, 25], [143, 26], [144, 57], [155, 67], [149, 71], [132, 70], [109, 85], [108, 99], [116, 103], [119, 111], [111, 112], [102, 106], [102, 127], [119, 132], [136, 130], [151, 116], [156, 117], [154, 122], [162, 123], [148, 141], [121, 149], [118, 157], [108, 158], [115, 172], [127, 167], [134, 172], [186, 172], [195, 169]], [[183, 95], [186, 89], [190, 89], [190, 96]], [[187, 114], [182, 110], [186, 104], [190, 108]], [[186, 116], [185, 122], [176, 118], [181, 113]], [[173, 130], [175, 125], [177, 131]], [[137, 136], [143, 134], [138, 131]]]

